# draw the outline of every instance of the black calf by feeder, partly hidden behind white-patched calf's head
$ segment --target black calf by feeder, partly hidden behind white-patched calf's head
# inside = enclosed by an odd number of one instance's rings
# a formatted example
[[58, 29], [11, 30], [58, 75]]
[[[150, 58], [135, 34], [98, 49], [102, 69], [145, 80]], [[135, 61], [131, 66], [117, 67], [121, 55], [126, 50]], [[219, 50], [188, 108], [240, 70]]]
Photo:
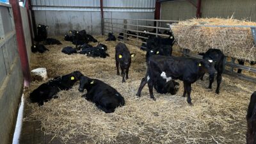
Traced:
[[[220, 83], [222, 79], [222, 73], [223, 73], [223, 59], [224, 54], [220, 51], [220, 49], [209, 49], [207, 52], [205, 52], [203, 59], [205, 60], [212, 60], [214, 62], [214, 67], [217, 70], [217, 88], [216, 93], [220, 93]], [[201, 77], [201, 80], [203, 79], [204, 75]], [[214, 74], [209, 76], [209, 86], [208, 88], [212, 88], [212, 82], [214, 81]]]

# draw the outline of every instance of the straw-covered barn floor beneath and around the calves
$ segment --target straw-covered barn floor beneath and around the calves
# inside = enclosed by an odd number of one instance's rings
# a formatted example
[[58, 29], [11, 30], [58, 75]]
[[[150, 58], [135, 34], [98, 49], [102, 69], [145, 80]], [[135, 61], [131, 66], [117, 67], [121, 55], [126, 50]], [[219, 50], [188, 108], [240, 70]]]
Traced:
[[[181, 81], [177, 95], [154, 91], [157, 98], [154, 101], [149, 98], [146, 85], [141, 98], [136, 98], [141, 78], [145, 76], [145, 52], [127, 45], [136, 56], [129, 79], [122, 83], [115, 69], [117, 42], [105, 42], [106, 36], [95, 38], [108, 46], [110, 57], [68, 56], [61, 49], [72, 44], [58, 37], [63, 45], [49, 45], [49, 52], [31, 54], [31, 69], [45, 67], [50, 78], [80, 70], [116, 88], [125, 98], [125, 106], [106, 114], [81, 98], [79, 83], [58, 93], [59, 99], [42, 107], [26, 100], [20, 143], [246, 143], [246, 109], [255, 83], [223, 75], [221, 93], [216, 95], [216, 81], [209, 90], [205, 76], [204, 81], [192, 85], [193, 106], [181, 97]], [[26, 90], [26, 98], [42, 83], [33, 81]]]

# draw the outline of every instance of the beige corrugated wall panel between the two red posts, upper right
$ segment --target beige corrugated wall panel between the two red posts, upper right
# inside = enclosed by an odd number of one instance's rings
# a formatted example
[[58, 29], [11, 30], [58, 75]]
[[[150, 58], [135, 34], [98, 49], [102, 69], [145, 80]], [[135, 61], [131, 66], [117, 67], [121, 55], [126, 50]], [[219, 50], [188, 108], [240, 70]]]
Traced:
[[163, 20], [186, 20], [193, 17], [196, 17], [196, 8], [188, 1], [161, 3], [161, 19]]

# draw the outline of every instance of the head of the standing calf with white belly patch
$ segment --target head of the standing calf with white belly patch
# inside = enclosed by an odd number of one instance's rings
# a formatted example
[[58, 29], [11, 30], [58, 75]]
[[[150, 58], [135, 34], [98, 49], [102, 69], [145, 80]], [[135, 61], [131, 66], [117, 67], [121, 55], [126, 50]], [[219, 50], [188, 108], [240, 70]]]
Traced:
[[203, 59], [198, 63], [199, 68], [204, 72], [209, 73], [210, 76], [214, 76], [216, 69], [214, 68], [214, 61], [210, 59]]

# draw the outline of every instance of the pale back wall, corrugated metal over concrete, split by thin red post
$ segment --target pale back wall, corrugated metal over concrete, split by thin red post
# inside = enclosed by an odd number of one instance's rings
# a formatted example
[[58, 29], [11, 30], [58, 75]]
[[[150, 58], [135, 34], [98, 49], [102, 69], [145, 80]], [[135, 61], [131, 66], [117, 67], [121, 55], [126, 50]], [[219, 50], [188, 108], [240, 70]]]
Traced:
[[[154, 19], [156, 0], [103, 0], [104, 17]], [[101, 34], [100, 0], [32, 0], [36, 24], [49, 26], [49, 36], [70, 29]]]

